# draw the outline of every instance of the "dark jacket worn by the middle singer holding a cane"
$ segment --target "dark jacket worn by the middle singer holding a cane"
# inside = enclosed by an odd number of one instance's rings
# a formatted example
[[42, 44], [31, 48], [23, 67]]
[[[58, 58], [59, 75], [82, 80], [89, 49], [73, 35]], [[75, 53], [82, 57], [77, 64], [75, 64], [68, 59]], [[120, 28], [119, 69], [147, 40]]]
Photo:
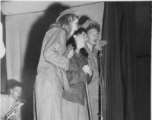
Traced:
[[70, 89], [68, 91], [64, 90], [64, 99], [81, 105], [85, 104], [85, 82], [89, 81], [91, 77], [84, 73], [82, 67], [87, 64], [87, 57], [83, 56], [81, 53], [78, 55], [74, 52], [73, 57], [70, 59], [69, 70], [66, 72]]

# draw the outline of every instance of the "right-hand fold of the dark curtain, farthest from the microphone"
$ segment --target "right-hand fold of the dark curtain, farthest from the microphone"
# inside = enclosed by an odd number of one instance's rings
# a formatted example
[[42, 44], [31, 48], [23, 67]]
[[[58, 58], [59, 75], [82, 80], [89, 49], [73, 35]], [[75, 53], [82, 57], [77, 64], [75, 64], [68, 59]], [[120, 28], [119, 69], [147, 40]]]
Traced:
[[124, 82], [125, 119], [135, 120], [134, 81], [136, 69], [135, 3], [123, 3], [122, 80]]

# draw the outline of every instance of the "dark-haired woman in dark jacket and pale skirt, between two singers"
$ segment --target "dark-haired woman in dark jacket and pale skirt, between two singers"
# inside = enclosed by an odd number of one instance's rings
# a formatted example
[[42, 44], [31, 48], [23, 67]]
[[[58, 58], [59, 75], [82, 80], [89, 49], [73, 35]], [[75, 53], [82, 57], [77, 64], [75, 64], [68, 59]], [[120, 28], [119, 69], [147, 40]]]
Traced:
[[79, 28], [67, 43], [74, 47], [74, 53], [70, 58], [69, 70], [67, 71], [70, 89], [63, 92], [63, 120], [88, 119], [85, 82], [89, 82], [92, 72], [87, 65], [88, 54], [81, 49], [85, 46], [86, 41], [86, 30]]

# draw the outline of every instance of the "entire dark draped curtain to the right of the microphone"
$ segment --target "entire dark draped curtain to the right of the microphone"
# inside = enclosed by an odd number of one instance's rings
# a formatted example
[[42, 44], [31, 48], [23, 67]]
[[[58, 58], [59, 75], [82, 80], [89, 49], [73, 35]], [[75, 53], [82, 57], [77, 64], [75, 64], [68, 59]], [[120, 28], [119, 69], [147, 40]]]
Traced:
[[105, 47], [106, 120], [135, 120], [135, 3], [106, 2]]

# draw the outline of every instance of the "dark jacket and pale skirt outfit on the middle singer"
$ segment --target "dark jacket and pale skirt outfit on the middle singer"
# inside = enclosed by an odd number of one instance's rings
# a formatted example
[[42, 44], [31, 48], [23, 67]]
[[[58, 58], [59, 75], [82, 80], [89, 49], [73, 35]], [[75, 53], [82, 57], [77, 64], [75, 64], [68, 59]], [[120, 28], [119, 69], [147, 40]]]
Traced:
[[85, 82], [90, 81], [91, 76], [82, 70], [87, 64], [87, 57], [74, 52], [67, 71], [70, 89], [63, 92], [63, 120], [88, 120]]

